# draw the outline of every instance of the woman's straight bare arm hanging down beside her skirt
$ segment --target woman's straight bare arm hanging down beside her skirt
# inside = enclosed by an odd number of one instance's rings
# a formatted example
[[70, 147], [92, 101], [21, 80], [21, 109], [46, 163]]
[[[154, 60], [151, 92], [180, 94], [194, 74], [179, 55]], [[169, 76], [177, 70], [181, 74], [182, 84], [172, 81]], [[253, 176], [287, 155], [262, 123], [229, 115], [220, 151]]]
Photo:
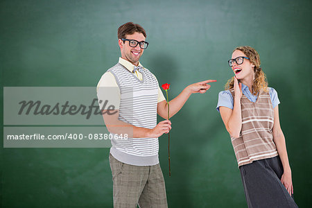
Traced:
[[281, 175], [281, 183], [284, 184], [288, 193], [293, 194], [293, 182], [291, 180], [291, 166], [288, 162], [288, 155], [286, 150], [286, 142], [284, 134], [279, 124], [279, 106], [274, 108], [274, 125], [273, 125], [273, 141], [276, 145], [277, 152], [281, 158], [281, 164], [283, 164], [284, 173]]

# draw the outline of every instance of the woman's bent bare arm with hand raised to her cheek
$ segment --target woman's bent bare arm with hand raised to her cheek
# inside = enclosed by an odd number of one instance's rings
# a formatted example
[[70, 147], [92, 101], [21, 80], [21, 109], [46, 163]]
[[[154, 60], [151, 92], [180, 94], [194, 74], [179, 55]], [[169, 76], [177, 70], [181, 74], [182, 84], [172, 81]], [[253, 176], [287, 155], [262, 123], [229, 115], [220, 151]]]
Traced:
[[225, 124], [225, 128], [227, 128], [227, 132], [234, 138], [238, 138], [241, 133], [241, 83], [238, 82], [236, 78], [234, 78], [234, 106], [233, 110], [220, 106], [220, 114]]

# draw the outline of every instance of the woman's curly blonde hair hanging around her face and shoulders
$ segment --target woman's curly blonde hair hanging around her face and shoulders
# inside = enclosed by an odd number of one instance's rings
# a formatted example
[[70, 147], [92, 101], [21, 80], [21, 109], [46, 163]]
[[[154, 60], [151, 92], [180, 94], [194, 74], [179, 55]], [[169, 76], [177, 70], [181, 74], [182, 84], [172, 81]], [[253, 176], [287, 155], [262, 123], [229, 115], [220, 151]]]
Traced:
[[[260, 64], [259, 53], [250, 46], [239, 46], [234, 51], [239, 50], [245, 53], [245, 55], [249, 58], [250, 62], [254, 64], [254, 81], [252, 83], [252, 94], [257, 95], [261, 90], [263, 92], [268, 92], [268, 81], [266, 80], [266, 74], [263, 73]], [[234, 52], [233, 51], [233, 52]], [[225, 84], [225, 90], [233, 89], [234, 87], [234, 77], [227, 80]]]

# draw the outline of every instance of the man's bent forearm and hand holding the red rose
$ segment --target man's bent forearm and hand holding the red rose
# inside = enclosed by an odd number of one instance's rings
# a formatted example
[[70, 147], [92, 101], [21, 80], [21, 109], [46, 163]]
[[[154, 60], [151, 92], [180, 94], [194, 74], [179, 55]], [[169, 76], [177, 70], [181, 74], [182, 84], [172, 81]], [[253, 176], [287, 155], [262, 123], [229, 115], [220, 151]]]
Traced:
[[157, 138], [171, 130], [171, 121], [164, 120], [159, 122], [155, 128], [141, 128], [118, 119], [119, 110], [103, 110], [103, 119], [109, 132], [118, 135], [128, 135], [131, 138]]

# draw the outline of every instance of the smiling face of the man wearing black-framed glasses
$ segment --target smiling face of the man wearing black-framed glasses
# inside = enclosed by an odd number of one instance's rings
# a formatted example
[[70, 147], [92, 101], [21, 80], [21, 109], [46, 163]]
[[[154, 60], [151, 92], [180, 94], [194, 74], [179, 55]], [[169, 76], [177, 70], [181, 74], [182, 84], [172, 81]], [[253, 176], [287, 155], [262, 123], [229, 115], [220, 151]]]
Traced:
[[[133, 33], [132, 35], [125, 35], [125, 39], [129, 40], [137, 40], [138, 42], [145, 41], [145, 37], [142, 33]], [[139, 59], [144, 51], [144, 49], [141, 49], [139, 44], [135, 47], [129, 46], [129, 41], [126, 40], [125, 43], [123, 43], [123, 40], [119, 39], [119, 47], [121, 49], [121, 58], [128, 60], [135, 66], [139, 64]]]

